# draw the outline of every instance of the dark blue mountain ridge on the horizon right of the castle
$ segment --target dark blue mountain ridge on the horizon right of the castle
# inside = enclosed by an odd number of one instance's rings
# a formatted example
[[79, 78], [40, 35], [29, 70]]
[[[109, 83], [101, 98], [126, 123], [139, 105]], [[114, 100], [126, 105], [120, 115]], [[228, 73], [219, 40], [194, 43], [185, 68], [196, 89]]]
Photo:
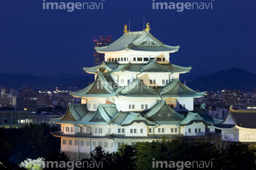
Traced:
[[223, 89], [255, 91], [256, 74], [234, 67], [228, 71], [222, 70], [215, 72], [215, 74], [187, 80], [187, 86], [199, 91], [220, 91]]

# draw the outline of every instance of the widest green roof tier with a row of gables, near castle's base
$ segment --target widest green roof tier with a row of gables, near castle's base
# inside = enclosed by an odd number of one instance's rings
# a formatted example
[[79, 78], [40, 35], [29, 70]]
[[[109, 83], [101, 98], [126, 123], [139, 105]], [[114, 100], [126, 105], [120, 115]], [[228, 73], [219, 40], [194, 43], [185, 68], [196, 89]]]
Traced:
[[86, 104], [71, 104], [62, 118], [53, 118], [54, 123], [72, 123], [81, 125], [132, 125], [144, 123], [149, 126], [155, 125], [190, 125], [193, 122], [202, 122], [206, 125], [220, 123], [218, 119], [211, 118], [204, 106], [196, 106], [197, 112], [174, 111], [166, 104], [165, 100], [157, 101], [147, 111], [122, 112], [117, 111], [114, 104], [99, 104], [97, 111], [88, 111]]

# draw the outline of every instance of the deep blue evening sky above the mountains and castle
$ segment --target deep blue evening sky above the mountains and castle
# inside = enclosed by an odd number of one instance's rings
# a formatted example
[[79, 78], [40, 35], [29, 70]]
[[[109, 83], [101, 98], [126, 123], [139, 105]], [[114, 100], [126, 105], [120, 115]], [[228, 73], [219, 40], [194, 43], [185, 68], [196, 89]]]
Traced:
[[43, 10], [43, 0], [1, 0], [0, 74], [82, 74], [82, 67], [93, 66], [93, 40], [100, 35], [116, 40], [129, 18], [132, 31], [143, 30], [145, 18], [161, 42], [180, 45], [170, 60], [193, 67], [191, 74], [232, 67], [256, 74], [255, 0], [161, 2], [213, 2], [213, 9], [153, 10], [150, 0], [105, 0], [102, 10], [68, 12]]

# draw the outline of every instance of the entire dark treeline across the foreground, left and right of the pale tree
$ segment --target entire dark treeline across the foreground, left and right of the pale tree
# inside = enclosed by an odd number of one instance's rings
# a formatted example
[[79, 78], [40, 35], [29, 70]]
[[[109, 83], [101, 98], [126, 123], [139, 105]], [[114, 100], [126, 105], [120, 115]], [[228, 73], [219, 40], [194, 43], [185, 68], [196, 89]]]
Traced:
[[[96, 147], [90, 159], [70, 162], [60, 154], [60, 139], [50, 135], [57, 127], [26, 125], [20, 129], [0, 129], [0, 169], [21, 169], [18, 164], [26, 158], [43, 157], [46, 161], [62, 162], [53, 169], [81, 169], [75, 163], [87, 162], [82, 169], [256, 169], [256, 148], [240, 142], [230, 145], [221, 140], [170, 140], [163, 137], [154, 142], [137, 142], [134, 146], [122, 145], [117, 152], [105, 152]], [[63, 164], [63, 162], [67, 163]], [[69, 162], [69, 164], [68, 164]], [[100, 166], [97, 166], [99, 165]], [[69, 165], [69, 166], [68, 166]], [[86, 166], [87, 165], [87, 166]], [[6, 168], [5, 168], [6, 167]]]

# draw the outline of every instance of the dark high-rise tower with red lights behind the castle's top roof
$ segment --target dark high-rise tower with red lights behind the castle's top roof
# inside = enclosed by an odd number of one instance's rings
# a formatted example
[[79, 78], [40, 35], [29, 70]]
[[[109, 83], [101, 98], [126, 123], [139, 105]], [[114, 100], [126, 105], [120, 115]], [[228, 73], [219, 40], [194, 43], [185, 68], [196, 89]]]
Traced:
[[[100, 36], [100, 40], [94, 40], [95, 47], [104, 47], [107, 45], [110, 45], [113, 40], [111, 40], [111, 36]], [[105, 54], [97, 52], [97, 50], [94, 50], [94, 65], [100, 65], [102, 64], [102, 61], [105, 61]]]

